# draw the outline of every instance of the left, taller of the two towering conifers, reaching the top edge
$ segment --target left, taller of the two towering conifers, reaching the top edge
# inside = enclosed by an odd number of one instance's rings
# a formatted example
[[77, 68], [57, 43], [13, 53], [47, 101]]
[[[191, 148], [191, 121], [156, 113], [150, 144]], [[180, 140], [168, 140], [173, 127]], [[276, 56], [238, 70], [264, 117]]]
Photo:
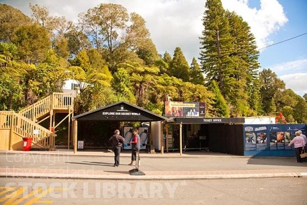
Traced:
[[233, 50], [233, 39], [225, 10], [220, 0], [207, 0], [203, 17], [204, 31], [201, 39], [201, 68], [206, 75], [206, 81], [215, 80], [223, 96], [228, 99], [231, 83], [229, 80], [233, 71], [233, 60], [230, 53]]

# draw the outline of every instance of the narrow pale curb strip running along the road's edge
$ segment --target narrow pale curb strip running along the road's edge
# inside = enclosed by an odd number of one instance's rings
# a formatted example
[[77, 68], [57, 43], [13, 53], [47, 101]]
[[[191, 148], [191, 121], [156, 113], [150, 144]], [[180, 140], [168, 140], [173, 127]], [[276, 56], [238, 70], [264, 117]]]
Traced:
[[[49, 170], [49, 169], [5, 169], [0, 168], [0, 177], [15, 178], [63, 178], [63, 179], [110, 179], [110, 180], [188, 180], [188, 179], [246, 179], [246, 178], [278, 178], [278, 177], [306, 177], [303, 170], [241, 170], [241, 171], [174, 171], [161, 172], [144, 171], [145, 175], [129, 175], [128, 171], [87, 171], [80, 170]], [[258, 172], [258, 173], [257, 173]]]

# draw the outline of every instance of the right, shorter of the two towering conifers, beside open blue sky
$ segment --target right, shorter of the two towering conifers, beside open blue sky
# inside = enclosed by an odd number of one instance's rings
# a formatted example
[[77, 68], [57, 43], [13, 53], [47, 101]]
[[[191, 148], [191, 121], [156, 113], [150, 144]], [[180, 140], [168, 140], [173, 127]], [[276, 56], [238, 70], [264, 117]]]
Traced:
[[230, 34], [233, 37], [233, 51], [230, 54], [234, 61], [235, 79], [233, 89], [237, 92], [231, 95], [231, 104], [238, 108], [240, 115], [256, 115], [259, 109], [259, 92], [255, 89], [258, 80], [258, 51], [255, 37], [243, 18], [235, 12], [226, 11], [229, 19]]

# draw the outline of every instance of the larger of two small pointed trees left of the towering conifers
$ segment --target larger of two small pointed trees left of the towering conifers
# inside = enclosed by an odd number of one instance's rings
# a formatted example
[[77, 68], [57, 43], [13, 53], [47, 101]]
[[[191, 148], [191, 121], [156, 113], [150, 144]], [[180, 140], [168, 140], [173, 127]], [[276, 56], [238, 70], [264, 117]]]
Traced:
[[173, 58], [168, 68], [170, 76], [181, 78], [183, 81], [188, 82], [190, 79], [190, 67], [181, 50], [177, 47], [174, 50]]

